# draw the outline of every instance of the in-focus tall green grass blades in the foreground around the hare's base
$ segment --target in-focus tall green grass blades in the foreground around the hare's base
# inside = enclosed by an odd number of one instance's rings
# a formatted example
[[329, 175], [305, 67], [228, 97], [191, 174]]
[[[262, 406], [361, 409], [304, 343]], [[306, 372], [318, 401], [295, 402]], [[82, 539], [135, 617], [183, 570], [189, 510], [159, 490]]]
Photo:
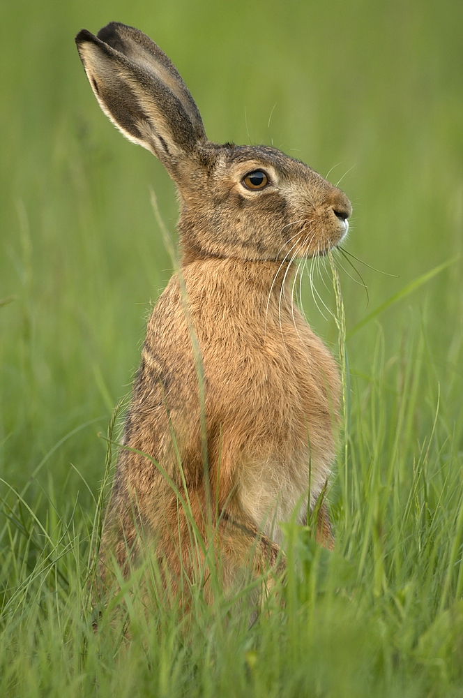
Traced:
[[[162, 593], [147, 603], [137, 572], [96, 618], [89, 553], [103, 499], [59, 506], [51, 477], [42, 507], [10, 489], [6, 695], [459, 695], [463, 424], [446, 419], [426, 341], [423, 320], [386, 362], [379, 329], [370, 379], [346, 371], [349, 430], [329, 497], [335, 551], [287, 524], [289, 571], [257, 618], [250, 588], [208, 606], [198, 586], [182, 612]], [[424, 438], [417, 417], [430, 425]], [[111, 459], [109, 448], [108, 468]]]

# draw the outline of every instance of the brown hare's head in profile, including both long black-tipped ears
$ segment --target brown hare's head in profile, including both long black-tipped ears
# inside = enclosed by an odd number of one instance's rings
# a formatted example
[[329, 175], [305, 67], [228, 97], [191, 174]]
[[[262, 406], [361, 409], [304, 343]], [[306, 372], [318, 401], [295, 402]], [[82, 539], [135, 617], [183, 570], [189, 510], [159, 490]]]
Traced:
[[346, 235], [347, 196], [308, 165], [275, 148], [208, 141], [175, 66], [141, 31], [112, 22], [76, 42], [100, 107], [176, 183], [185, 252], [291, 260], [326, 253]]

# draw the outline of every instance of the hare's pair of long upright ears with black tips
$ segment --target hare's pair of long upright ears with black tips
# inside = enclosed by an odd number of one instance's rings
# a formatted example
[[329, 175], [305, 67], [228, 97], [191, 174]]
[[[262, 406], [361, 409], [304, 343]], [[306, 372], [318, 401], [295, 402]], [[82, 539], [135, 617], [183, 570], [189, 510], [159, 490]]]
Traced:
[[174, 64], [148, 36], [111, 22], [75, 41], [95, 96], [129, 140], [171, 170], [206, 142], [201, 114]]

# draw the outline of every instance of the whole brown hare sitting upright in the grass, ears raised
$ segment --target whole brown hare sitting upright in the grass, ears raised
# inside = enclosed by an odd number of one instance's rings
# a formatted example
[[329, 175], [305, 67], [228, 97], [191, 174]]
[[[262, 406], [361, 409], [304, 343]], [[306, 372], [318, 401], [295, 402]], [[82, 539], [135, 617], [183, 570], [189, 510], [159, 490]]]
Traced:
[[[181, 264], [147, 325], [103, 571], [109, 556], [124, 572], [141, 560], [142, 537], [171, 579], [192, 577], [208, 523], [224, 584], [246, 565], [281, 569], [279, 524], [304, 523], [324, 489], [340, 396], [335, 360], [291, 302], [294, 261], [339, 244], [351, 204], [273, 147], [209, 141], [175, 66], [137, 29], [111, 22], [76, 43], [103, 112], [159, 158], [181, 209]], [[325, 504], [317, 538], [333, 545]]]

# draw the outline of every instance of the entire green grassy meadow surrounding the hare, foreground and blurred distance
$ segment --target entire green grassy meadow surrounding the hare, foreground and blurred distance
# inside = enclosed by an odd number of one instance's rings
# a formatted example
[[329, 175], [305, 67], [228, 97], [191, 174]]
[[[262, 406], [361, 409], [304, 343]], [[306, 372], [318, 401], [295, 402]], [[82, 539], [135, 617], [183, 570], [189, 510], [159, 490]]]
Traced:
[[[4, 0], [1, 15], [0, 695], [461, 696], [462, 3]], [[257, 618], [245, 592], [206, 607], [199, 588], [185, 616], [147, 611], [132, 579], [93, 628], [105, 437], [172, 274], [150, 188], [173, 236], [177, 211], [77, 56], [77, 31], [111, 20], [171, 57], [211, 140], [273, 143], [354, 205], [345, 332], [329, 265], [301, 294], [344, 366], [335, 550], [287, 526], [285, 602]]]

